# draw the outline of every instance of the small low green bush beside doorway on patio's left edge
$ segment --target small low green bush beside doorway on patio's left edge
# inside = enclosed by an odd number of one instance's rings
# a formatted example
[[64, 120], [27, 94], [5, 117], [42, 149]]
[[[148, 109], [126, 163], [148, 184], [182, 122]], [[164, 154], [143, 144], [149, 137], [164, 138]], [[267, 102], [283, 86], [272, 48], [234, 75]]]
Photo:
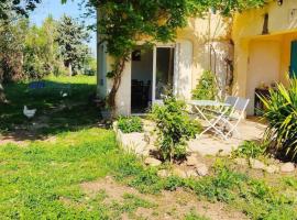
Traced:
[[118, 127], [123, 133], [142, 132], [142, 121], [139, 117], [120, 117]]

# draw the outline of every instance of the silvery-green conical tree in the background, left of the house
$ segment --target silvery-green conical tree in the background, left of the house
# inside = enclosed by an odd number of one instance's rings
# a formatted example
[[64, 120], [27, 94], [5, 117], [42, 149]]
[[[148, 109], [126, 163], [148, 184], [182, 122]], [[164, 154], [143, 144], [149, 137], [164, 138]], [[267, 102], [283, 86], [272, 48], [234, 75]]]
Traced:
[[58, 22], [57, 32], [58, 54], [72, 76], [82, 68], [88, 58], [89, 50], [85, 42], [88, 41], [89, 34], [82, 24], [67, 15]]

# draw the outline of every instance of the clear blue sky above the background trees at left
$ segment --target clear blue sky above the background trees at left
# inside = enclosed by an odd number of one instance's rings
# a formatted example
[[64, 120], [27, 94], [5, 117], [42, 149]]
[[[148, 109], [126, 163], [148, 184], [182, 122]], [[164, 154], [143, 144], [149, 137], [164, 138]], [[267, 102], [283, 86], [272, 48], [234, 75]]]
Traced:
[[[73, 18], [80, 19], [80, 15], [84, 11], [80, 10], [76, 1], [68, 0], [66, 4], [62, 4], [61, 0], [42, 0], [42, 3], [37, 6], [35, 11], [33, 11], [30, 15], [30, 20], [32, 23], [41, 25], [48, 14], [52, 14], [54, 19], [59, 19], [63, 14], [70, 15]], [[88, 19], [88, 23], [95, 22], [94, 19]], [[92, 48], [92, 53], [96, 53], [96, 33], [91, 33], [91, 41], [89, 43]]]

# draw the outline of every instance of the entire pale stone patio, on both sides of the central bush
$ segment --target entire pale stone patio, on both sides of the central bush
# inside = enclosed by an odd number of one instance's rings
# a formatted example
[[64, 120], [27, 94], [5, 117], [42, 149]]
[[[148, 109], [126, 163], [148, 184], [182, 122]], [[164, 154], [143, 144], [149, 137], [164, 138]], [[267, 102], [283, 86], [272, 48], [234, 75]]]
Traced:
[[[256, 120], [244, 120], [239, 124], [241, 136], [234, 136], [224, 141], [212, 133], [198, 136], [188, 142], [188, 151], [207, 155], [229, 155], [232, 150], [238, 148], [244, 141], [260, 141], [263, 138], [266, 127]], [[154, 124], [144, 120], [144, 133], [123, 134], [114, 127], [118, 142], [128, 151], [138, 155], [148, 156], [151, 150], [155, 150], [156, 134], [154, 134]]]

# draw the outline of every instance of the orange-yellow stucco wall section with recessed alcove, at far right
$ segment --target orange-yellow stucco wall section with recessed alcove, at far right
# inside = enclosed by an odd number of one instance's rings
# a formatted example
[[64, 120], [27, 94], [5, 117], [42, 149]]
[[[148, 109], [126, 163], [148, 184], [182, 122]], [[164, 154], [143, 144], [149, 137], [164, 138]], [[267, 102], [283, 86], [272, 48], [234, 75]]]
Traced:
[[[268, 34], [263, 34], [264, 15], [268, 14]], [[272, 1], [263, 9], [237, 14], [233, 22], [234, 86], [233, 94], [251, 99], [261, 82], [287, 82], [290, 43], [297, 40], [297, 0], [283, 6]]]

